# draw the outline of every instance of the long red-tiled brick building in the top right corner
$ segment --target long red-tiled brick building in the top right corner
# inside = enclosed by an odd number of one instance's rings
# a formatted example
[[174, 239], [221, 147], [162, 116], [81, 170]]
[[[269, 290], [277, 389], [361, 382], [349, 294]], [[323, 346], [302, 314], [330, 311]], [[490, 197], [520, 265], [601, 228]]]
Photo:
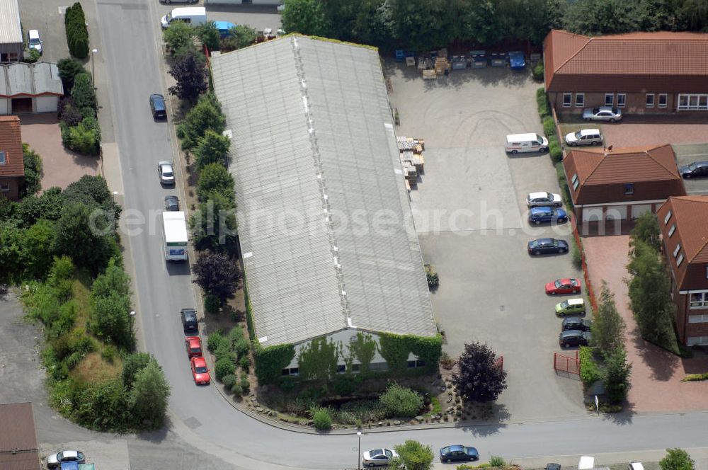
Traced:
[[708, 34], [627, 33], [590, 38], [552, 30], [545, 88], [558, 113], [612, 105], [631, 114], [708, 111]]

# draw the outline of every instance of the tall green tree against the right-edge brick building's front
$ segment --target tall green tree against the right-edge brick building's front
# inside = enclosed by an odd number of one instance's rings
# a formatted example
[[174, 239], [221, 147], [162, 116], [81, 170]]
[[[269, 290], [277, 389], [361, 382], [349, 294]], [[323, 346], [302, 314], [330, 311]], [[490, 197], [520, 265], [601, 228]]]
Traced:
[[675, 304], [666, 265], [649, 245], [639, 240], [633, 243], [632, 258], [627, 265], [629, 306], [641, 337], [678, 352], [673, 331]]

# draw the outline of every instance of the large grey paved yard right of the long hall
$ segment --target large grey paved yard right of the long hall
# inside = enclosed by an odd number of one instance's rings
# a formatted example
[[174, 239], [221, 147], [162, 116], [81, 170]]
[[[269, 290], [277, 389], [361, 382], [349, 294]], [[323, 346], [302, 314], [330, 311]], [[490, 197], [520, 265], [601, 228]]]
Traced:
[[499, 416], [534, 420], [583, 415], [575, 379], [556, 376], [560, 321], [544, 282], [579, 276], [569, 255], [530, 258], [538, 236], [570, 240], [569, 227], [529, 227], [527, 193], [559, 193], [547, 155], [507, 156], [506, 134], [542, 132], [535, 89], [508, 69], [452, 71], [423, 81], [412, 67], [387, 64], [396, 132], [426, 139], [425, 174], [411, 191], [423, 258], [435, 265], [440, 288], [433, 309], [456, 357], [480, 340], [504, 357], [509, 388]]

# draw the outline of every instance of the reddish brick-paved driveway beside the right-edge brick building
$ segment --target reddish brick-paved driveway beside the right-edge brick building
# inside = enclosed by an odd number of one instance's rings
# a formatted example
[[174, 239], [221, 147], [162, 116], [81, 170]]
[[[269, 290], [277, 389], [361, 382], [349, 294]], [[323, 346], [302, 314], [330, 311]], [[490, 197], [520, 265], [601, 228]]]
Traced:
[[708, 359], [681, 359], [647, 343], [629, 309], [627, 277], [629, 235], [583, 237], [588, 274], [599, 294], [604, 279], [615, 293], [617, 310], [627, 322], [627, 360], [632, 362], [629, 406], [635, 413], [649, 411], [691, 411], [708, 409], [708, 382], [680, 382], [686, 374], [708, 370]]

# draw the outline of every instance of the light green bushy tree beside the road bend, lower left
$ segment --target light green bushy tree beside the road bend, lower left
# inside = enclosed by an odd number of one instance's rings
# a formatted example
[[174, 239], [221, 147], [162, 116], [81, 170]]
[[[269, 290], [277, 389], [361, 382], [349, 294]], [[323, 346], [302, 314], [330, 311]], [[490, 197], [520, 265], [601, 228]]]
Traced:
[[148, 428], [161, 428], [165, 420], [170, 384], [156, 360], [135, 374], [132, 389], [128, 395], [128, 408], [135, 422]]

